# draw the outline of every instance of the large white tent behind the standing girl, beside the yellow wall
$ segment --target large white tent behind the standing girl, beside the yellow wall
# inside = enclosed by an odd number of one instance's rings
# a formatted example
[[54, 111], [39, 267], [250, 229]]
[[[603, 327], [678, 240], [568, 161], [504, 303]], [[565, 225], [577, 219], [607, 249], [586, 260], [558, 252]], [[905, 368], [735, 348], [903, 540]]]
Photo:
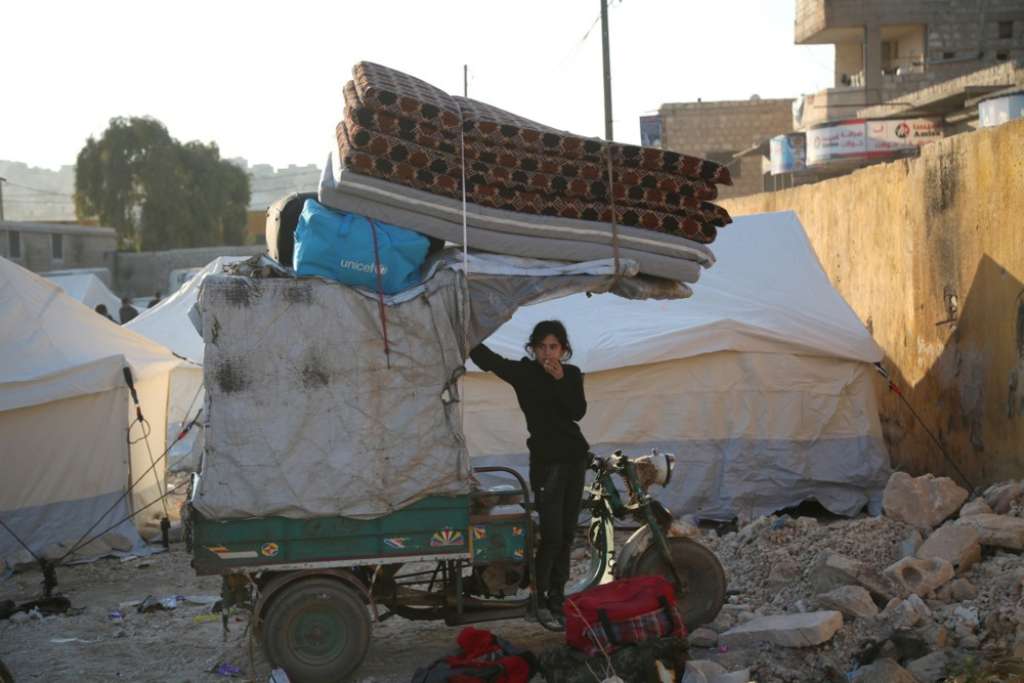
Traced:
[[[675, 454], [658, 498], [677, 514], [750, 517], [808, 499], [839, 514], [878, 510], [889, 473], [873, 386], [882, 350], [792, 212], [737, 218], [714, 249], [690, 299], [574, 295], [520, 308], [487, 344], [517, 358], [537, 322], [565, 323], [587, 374], [592, 450]], [[524, 466], [511, 388], [470, 370], [470, 454]]]

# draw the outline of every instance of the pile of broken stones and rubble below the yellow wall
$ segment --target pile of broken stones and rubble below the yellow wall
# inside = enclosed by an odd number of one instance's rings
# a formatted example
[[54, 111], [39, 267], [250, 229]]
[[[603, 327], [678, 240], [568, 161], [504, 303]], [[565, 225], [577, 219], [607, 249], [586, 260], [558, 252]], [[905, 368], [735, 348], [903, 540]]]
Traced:
[[900, 472], [879, 517], [706, 531], [730, 596], [690, 635], [692, 656], [759, 683], [933, 683], [1020, 660], [1024, 482], [968, 499], [951, 479]]

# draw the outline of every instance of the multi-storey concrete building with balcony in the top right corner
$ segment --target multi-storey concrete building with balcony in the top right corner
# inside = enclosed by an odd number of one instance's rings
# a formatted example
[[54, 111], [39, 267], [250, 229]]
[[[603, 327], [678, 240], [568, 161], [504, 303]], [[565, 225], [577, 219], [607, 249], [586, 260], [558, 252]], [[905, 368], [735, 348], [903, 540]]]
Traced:
[[796, 2], [796, 43], [836, 46], [836, 84], [801, 98], [800, 130], [1024, 58], [1020, 0]]

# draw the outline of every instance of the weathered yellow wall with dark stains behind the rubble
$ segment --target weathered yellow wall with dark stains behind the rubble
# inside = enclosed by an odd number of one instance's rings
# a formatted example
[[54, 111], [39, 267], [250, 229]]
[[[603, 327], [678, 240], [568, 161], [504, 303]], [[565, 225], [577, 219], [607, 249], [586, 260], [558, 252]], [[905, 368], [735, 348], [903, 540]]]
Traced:
[[[1024, 121], [722, 204], [737, 216], [796, 211], [961, 469], [976, 484], [1024, 476]], [[909, 410], [880, 391], [893, 464], [952, 475]]]

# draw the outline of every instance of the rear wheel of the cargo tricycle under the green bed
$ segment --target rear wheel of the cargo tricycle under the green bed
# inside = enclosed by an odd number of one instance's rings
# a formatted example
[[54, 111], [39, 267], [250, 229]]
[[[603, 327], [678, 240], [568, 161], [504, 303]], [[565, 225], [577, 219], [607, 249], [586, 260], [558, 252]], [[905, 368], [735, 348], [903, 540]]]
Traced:
[[265, 612], [267, 659], [296, 683], [336, 683], [362, 663], [370, 648], [370, 616], [352, 589], [332, 579], [283, 588]]

